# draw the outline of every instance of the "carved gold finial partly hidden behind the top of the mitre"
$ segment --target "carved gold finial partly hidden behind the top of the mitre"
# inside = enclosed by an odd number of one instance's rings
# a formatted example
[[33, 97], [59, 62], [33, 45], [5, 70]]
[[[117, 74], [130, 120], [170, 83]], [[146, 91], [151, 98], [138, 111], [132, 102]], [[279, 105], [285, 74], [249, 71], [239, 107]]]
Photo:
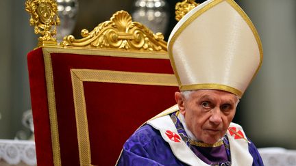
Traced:
[[177, 21], [181, 20], [181, 18], [187, 14], [190, 10], [197, 7], [199, 3], [196, 3], [195, 0], [184, 0], [182, 2], [178, 2], [175, 5], [175, 19]]

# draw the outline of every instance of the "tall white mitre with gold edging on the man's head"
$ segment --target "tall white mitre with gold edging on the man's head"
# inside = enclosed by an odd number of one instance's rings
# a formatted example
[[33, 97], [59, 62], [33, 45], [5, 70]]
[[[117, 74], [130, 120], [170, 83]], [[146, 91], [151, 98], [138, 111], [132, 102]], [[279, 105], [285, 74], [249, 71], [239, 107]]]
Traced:
[[208, 0], [188, 12], [168, 42], [181, 91], [221, 89], [243, 96], [262, 64], [262, 44], [233, 0]]

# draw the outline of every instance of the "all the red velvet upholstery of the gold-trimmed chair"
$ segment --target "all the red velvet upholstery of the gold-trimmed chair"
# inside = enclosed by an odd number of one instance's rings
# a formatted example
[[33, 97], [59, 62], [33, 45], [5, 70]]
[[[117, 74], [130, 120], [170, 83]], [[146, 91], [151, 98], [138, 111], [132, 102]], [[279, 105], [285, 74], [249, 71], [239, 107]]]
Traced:
[[[53, 165], [52, 124], [42, 49], [30, 52], [27, 61], [37, 162]], [[169, 59], [76, 54], [75, 51], [52, 51], [50, 57], [62, 165], [80, 165], [71, 69], [173, 74]], [[83, 89], [91, 164], [115, 165], [123, 143], [134, 130], [175, 104], [173, 96], [178, 87], [84, 81]]]

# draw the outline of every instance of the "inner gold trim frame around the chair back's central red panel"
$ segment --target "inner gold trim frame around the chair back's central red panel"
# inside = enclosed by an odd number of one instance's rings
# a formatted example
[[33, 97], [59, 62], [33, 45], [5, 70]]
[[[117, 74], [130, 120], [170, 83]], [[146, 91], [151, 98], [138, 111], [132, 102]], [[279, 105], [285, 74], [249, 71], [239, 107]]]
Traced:
[[71, 69], [80, 165], [90, 165], [90, 140], [83, 82], [177, 86], [174, 74]]

